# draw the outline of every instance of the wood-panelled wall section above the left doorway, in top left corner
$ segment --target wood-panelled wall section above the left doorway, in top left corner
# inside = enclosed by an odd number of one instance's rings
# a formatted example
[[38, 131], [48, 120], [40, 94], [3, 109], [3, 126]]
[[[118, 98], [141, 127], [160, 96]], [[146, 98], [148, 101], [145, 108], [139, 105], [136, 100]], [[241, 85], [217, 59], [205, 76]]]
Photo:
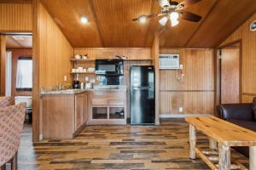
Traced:
[[32, 32], [32, 3], [0, 3], [0, 32]]

